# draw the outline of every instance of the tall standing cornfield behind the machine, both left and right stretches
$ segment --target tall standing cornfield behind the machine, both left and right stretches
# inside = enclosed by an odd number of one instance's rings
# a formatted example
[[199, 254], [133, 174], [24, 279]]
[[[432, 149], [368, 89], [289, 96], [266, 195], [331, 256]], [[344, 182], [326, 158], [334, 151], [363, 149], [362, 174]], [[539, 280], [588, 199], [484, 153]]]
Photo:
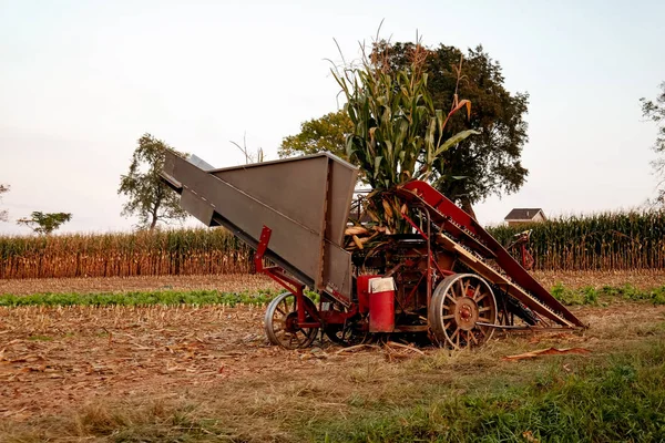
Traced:
[[[538, 270], [665, 269], [665, 213], [561, 217], [543, 224], [493, 227], [503, 245], [533, 229]], [[253, 250], [223, 228], [0, 236], [0, 278], [133, 277], [247, 274]]]

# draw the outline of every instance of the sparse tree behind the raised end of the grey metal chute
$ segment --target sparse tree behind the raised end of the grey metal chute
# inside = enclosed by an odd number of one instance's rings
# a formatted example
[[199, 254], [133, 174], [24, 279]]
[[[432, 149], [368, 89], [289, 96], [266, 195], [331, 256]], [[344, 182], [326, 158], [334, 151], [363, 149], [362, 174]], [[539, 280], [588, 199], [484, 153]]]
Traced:
[[122, 215], [137, 216], [139, 227], [154, 229], [157, 223], [182, 222], [187, 213], [180, 207], [177, 195], [160, 178], [166, 150], [180, 153], [151, 134], [139, 138], [130, 171], [120, 177], [117, 194], [127, 196]]

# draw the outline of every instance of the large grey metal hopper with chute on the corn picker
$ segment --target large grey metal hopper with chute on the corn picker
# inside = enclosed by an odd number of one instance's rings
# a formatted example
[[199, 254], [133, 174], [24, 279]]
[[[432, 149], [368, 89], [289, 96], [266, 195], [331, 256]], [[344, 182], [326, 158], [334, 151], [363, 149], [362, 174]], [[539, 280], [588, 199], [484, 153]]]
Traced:
[[358, 169], [329, 154], [222, 169], [167, 152], [162, 178], [181, 206], [207, 226], [224, 226], [303, 284], [351, 299], [351, 255], [344, 231]]

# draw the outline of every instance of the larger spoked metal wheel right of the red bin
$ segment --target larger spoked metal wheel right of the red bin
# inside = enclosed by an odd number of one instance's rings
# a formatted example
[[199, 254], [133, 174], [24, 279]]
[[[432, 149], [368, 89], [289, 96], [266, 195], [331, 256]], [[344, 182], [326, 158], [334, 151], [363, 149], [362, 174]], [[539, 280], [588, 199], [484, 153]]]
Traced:
[[473, 274], [456, 274], [437, 286], [429, 324], [439, 341], [454, 349], [477, 347], [492, 337], [497, 300], [490, 285]]

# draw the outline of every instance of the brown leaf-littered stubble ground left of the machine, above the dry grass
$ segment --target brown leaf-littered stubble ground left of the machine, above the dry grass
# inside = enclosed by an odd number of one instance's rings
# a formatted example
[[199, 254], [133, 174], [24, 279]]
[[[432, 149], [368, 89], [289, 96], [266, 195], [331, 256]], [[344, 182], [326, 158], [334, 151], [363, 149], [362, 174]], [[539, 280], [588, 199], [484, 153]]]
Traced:
[[298, 356], [267, 347], [262, 319], [250, 307], [0, 310], [0, 414], [286, 369]]

